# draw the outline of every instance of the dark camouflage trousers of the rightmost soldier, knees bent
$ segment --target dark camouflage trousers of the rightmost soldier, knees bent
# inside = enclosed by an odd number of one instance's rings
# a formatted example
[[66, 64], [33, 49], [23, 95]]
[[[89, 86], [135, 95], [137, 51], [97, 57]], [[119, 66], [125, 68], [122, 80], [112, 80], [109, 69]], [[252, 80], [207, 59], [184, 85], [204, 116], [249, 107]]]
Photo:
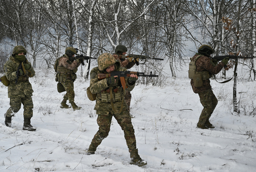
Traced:
[[207, 120], [209, 120], [210, 115], [212, 115], [213, 110], [218, 104], [218, 100], [214, 95], [212, 89], [203, 91], [199, 93], [200, 102], [204, 106], [204, 109], [201, 112], [199, 117], [199, 124], [204, 125]]

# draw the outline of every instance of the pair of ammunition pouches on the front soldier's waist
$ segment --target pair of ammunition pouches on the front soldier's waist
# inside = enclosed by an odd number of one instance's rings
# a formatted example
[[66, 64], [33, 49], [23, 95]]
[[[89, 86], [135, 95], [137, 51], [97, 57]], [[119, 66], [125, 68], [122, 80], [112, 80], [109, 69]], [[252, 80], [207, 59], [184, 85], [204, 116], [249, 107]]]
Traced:
[[[122, 93], [123, 93], [123, 91], [122, 91], [121, 87], [113, 89], [113, 91], [112, 91], [113, 102], [122, 101]], [[99, 98], [101, 100], [101, 102], [110, 103], [111, 102], [110, 88], [98, 93], [97, 98]]]

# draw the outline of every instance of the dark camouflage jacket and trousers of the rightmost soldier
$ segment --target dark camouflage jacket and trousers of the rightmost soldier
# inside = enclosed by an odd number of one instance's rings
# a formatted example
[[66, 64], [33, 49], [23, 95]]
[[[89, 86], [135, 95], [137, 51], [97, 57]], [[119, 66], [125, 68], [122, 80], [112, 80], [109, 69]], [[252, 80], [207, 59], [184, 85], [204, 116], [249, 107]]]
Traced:
[[[210, 61], [210, 58], [203, 54], [196, 53], [196, 55], [194, 55], [192, 59], [195, 59], [199, 55], [201, 55], [201, 57], [199, 57], [199, 59], [197, 59], [196, 61], [197, 72], [208, 71], [210, 75], [218, 74], [218, 72], [221, 71], [222, 67], [224, 67], [223, 62], [218, 63], [218, 65], [214, 65], [213, 62]], [[191, 79], [191, 86], [192, 86], [193, 92], [199, 94], [200, 102], [204, 107], [204, 109], [201, 112], [199, 123], [197, 124], [197, 126], [211, 127], [212, 124], [209, 123], [209, 118], [210, 118], [210, 115], [212, 115], [213, 110], [216, 108], [218, 100], [212, 91], [210, 80], [209, 79], [203, 80], [202, 87], [195, 87], [194, 81], [193, 79]]]

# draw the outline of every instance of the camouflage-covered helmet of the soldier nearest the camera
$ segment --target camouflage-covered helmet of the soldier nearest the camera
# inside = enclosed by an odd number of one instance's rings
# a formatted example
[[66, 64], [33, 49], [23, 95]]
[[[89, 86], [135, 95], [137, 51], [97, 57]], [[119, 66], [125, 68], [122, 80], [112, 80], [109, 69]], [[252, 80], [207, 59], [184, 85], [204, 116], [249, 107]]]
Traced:
[[120, 67], [120, 62], [118, 62], [110, 53], [103, 53], [98, 57], [98, 69], [100, 71], [104, 71], [106, 68], [114, 64], [116, 65], [115, 69]]

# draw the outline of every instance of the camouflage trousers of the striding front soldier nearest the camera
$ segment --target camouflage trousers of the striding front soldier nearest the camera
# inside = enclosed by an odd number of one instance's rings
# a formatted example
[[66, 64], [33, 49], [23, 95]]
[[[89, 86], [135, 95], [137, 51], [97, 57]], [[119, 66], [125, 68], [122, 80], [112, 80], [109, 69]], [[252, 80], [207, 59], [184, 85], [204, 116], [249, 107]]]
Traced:
[[96, 151], [96, 148], [98, 147], [98, 145], [101, 144], [101, 141], [109, 135], [112, 117], [117, 120], [119, 126], [121, 126], [125, 134], [125, 140], [127, 147], [129, 148], [129, 152], [135, 150], [136, 139], [134, 135], [134, 128], [133, 124], [131, 123], [131, 117], [129, 113], [127, 113], [127, 111], [114, 115], [112, 113], [109, 113], [109, 115], [98, 114], [97, 123], [99, 128], [92, 139], [92, 143], [90, 144], [89, 149], [92, 151]]

